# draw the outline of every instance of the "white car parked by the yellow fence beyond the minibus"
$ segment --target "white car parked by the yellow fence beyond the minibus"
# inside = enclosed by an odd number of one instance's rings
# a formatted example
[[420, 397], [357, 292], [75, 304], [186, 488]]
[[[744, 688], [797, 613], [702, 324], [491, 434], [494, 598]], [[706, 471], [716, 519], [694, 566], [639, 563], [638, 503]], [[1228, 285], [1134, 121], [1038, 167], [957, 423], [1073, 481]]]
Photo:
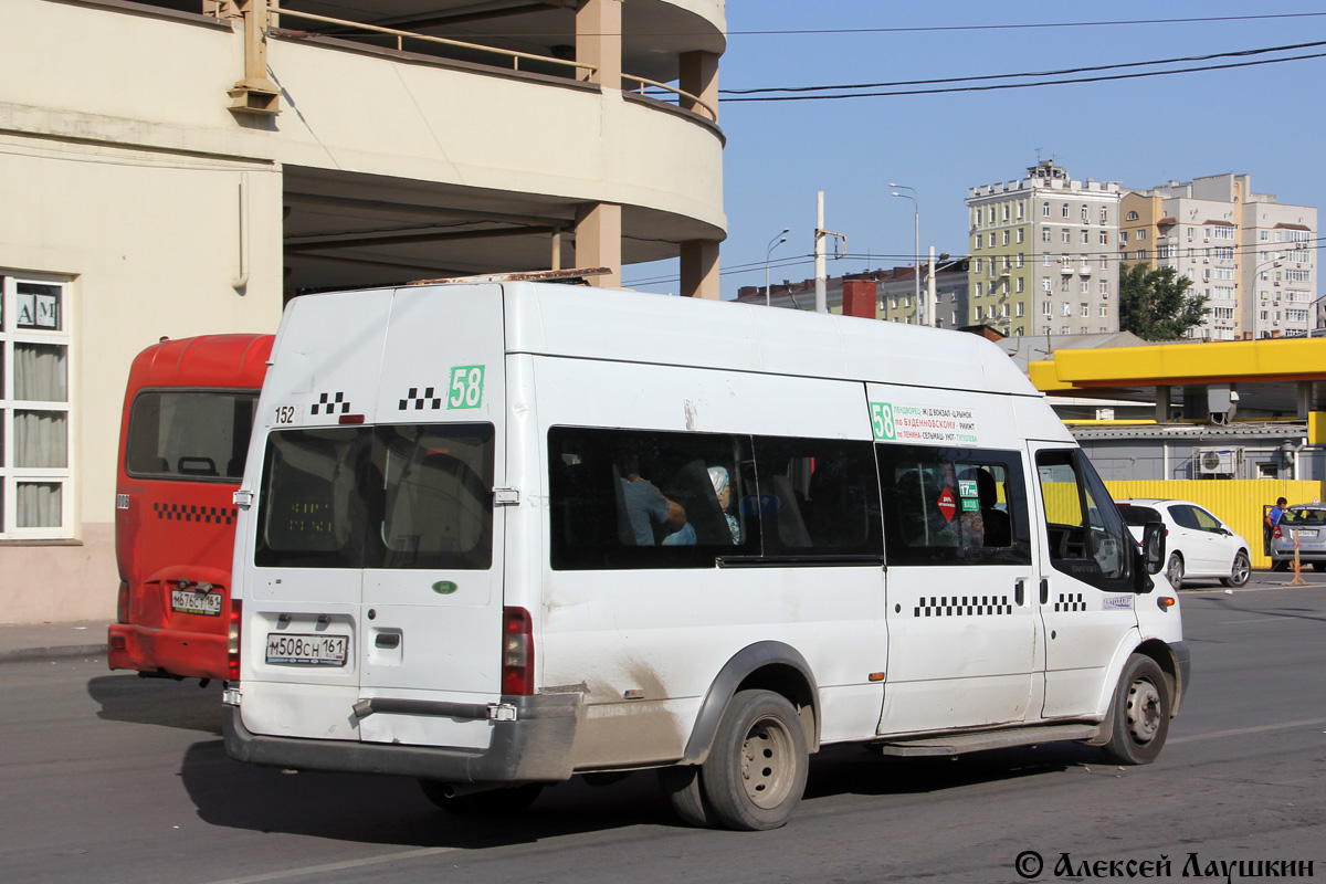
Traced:
[[1142, 539], [1147, 522], [1166, 526], [1166, 577], [1174, 588], [1184, 578], [1220, 578], [1225, 586], [1242, 586], [1252, 574], [1248, 541], [1192, 501], [1135, 498], [1118, 501], [1119, 513], [1132, 535]]

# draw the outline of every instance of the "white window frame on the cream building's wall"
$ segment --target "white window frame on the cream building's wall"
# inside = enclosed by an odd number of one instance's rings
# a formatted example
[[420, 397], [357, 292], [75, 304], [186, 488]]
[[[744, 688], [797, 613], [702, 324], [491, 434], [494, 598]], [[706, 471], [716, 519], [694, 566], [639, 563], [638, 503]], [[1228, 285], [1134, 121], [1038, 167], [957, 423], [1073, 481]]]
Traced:
[[[27, 329], [19, 327], [19, 285], [34, 284], [60, 289], [60, 327]], [[73, 284], [68, 277], [42, 273], [23, 273], [0, 268], [0, 371], [4, 384], [0, 387], [0, 433], [4, 437], [0, 453], [0, 539], [73, 539], [74, 537], [74, 459], [73, 441], [77, 439], [74, 415], [70, 399], [74, 388], [76, 364], [73, 349]], [[65, 400], [33, 402], [15, 399], [16, 359], [15, 345], [37, 343], [65, 349]], [[64, 467], [19, 467], [15, 463], [15, 412], [49, 411], [65, 415], [65, 465]], [[19, 485], [50, 484], [60, 485], [60, 525], [38, 527], [17, 527]]]

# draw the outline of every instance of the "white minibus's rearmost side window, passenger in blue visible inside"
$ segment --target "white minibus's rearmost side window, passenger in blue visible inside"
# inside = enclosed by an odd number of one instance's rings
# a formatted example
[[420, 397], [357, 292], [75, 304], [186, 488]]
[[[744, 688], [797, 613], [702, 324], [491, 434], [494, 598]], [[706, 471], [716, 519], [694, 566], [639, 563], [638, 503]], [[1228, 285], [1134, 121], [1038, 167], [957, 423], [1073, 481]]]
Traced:
[[713, 567], [757, 554], [740, 501], [757, 496], [744, 436], [553, 427], [554, 570]]

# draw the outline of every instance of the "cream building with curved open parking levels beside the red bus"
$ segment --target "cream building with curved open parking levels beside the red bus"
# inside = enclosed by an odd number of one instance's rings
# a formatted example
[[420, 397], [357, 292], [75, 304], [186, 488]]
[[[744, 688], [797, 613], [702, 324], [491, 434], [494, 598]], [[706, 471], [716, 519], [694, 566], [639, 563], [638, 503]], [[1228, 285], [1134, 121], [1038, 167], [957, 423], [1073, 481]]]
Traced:
[[119, 403], [162, 335], [668, 257], [716, 298], [724, 29], [724, 0], [5, 0], [0, 620], [114, 615]]

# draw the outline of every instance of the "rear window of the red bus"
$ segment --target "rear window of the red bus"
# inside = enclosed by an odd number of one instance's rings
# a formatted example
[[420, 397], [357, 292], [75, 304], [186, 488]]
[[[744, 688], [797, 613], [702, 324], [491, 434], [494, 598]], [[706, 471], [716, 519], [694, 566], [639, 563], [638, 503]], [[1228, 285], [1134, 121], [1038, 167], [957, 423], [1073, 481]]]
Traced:
[[145, 390], [129, 416], [125, 469], [178, 481], [244, 476], [257, 391]]

